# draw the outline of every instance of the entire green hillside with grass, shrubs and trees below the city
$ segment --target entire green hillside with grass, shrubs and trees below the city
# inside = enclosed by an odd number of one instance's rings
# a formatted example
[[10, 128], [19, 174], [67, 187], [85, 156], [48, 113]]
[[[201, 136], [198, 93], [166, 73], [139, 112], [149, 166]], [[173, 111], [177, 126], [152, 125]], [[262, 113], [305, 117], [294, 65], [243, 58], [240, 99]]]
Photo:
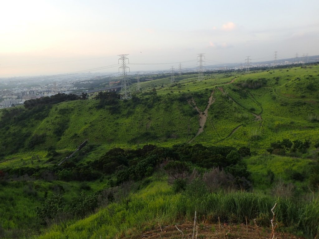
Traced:
[[[276, 202], [280, 230], [313, 238], [318, 71], [157, 75], [132, 84], [130, 100], [60, 95], [0, 110], [0, 238], [130, 237], [195, 208], [210, 223], [269, 226]], [[223, 183], [212, 190], [207, 177]]]

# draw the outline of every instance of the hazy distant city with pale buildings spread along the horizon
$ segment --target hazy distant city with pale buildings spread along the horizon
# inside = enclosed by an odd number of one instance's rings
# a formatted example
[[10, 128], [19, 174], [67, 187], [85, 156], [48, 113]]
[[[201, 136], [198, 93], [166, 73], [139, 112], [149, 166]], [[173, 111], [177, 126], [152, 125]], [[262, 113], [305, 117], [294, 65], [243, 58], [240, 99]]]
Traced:
[[[249, 58], [248, 58], [249, 62]], [[261, 68], [261, 67], [278, 67], [289, 64], [305, 64], [319, 62], [319, 56], [308, 56], [299, 58], [282, 59], [277, 61], [268, 62], [249, 62], [248, 68]], [[247, 69], [247, 64], [229, 63], [206, 65], [205, 70], [240, 70]], [[182, 69], [186, 72], [196, 72], [197, 68], [185, 68]], [[171, 70], [157, 70], [148, 71], [147, 74], [165, 74], [170, 73]], [[117, 73], [105, 73], [108, 76], [118, 76]], [[129, 73], [135, 75], [136, 72]], [[50, 76], [43, 77], [10, 77], [0, 78], [0, 108], [8, 108], [16, 105], [23, 105], [26, 100], [36, 99], [46, 96], [52, 96], [58, 93], [77, 93], [87, 90], [87, 87], [76, 87], [75, 84], [79, 83], [90, 84], [98, 79], [106, 77], [103, 73], [82, 73], [82, 74], [70, 74], [66, 76], [59, 76], [50, 79]]]

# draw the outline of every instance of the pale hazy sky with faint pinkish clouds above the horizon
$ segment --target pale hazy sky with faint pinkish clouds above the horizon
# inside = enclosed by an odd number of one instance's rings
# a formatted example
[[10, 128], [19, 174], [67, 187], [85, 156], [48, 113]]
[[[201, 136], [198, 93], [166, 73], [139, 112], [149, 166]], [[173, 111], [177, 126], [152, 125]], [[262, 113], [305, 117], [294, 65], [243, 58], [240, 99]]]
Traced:
[[[319, 55], [318, 0], [5, 0], [0, 77], [60, 74], [130, 63], [252, 62]], [[191, 61], [193, 62], [185, 62]], [[206, 64], [208, 64], [206, 62]], [[177, 64], [134, 65], [131, 71]], [[117, 67], [101, 70], [115, 72]]]

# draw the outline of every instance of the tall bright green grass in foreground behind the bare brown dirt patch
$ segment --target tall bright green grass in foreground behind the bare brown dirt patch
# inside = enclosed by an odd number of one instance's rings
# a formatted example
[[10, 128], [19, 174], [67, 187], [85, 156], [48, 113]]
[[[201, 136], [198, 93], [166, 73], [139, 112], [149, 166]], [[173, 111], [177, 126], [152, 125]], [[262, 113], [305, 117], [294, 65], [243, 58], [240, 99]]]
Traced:
[[145, 189], [111, 203], [98, 213], [83, 220], [55, 225], [39, 237], [33, 238], [119, 238], [130, 237], [157, 228], [158, 225], [191, 221], [197, 211], [198, 220], [209, 223], [244, 223], [256, 219], [269, 226], [271, 208], [275, 209], [279, 228], [313, 238], [318, 233], [319, 204], [292, 202], [247, 192], [211, 193], [191, 192], [175, 194], [165, 180], [153, 181]]

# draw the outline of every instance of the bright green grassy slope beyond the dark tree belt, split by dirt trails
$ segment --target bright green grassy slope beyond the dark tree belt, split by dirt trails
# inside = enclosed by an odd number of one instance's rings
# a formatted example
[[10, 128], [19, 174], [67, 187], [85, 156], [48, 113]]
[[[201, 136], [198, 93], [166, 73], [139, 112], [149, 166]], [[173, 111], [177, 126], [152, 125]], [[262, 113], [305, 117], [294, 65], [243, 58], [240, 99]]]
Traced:
[[[12, 134], [45, 133], [46, 142], [38, 147], [44, 150], [49, 146], [72, 150], [86, 138], [104, 148], [136, 147], [143, 143], [169, 146], [189, 141], [198, 130], [197, 117], [191, 114], [192, 107], [186, 100], [178, 101], [179, 95], [191, 95], [204, 111], [214, 91], [215, 102], [208, 111], [204, 132], [193, 142], [248, 145], [264, 150], [270, 142], [287, 137], [316, 141], [319, 139], [319, 122], [316, 121], [319, 107], [314, 83], [318, 79], [318, 69], [312, 66], [288, 72], [276, 69], [247, 75], [211, 74], [203, 82], [198, 82], [196, 75], [187, 75], [190, 78], [174, 84], [165, 79], [142, 82], [143, 92], [156, 85], [157, 94], [162, 96], [151, 108], [147, 101], [138, 105], [120, 102], [117, 111], [111, 114], [107, 109], [97, 110], [98, 103], [94, 100], [63, 102], [54, 105], [45, 119], [12, 127]], [[267, 84], [259, 89], [242, 89], [236, 85], [258, 78], [265, 78]], [[234, 79], [234, 83], [224, 84]], [[167, 85], [161, 87], [163, 81]], [[253, 114], [261, 114], [262, 120], [256, 121]]]

